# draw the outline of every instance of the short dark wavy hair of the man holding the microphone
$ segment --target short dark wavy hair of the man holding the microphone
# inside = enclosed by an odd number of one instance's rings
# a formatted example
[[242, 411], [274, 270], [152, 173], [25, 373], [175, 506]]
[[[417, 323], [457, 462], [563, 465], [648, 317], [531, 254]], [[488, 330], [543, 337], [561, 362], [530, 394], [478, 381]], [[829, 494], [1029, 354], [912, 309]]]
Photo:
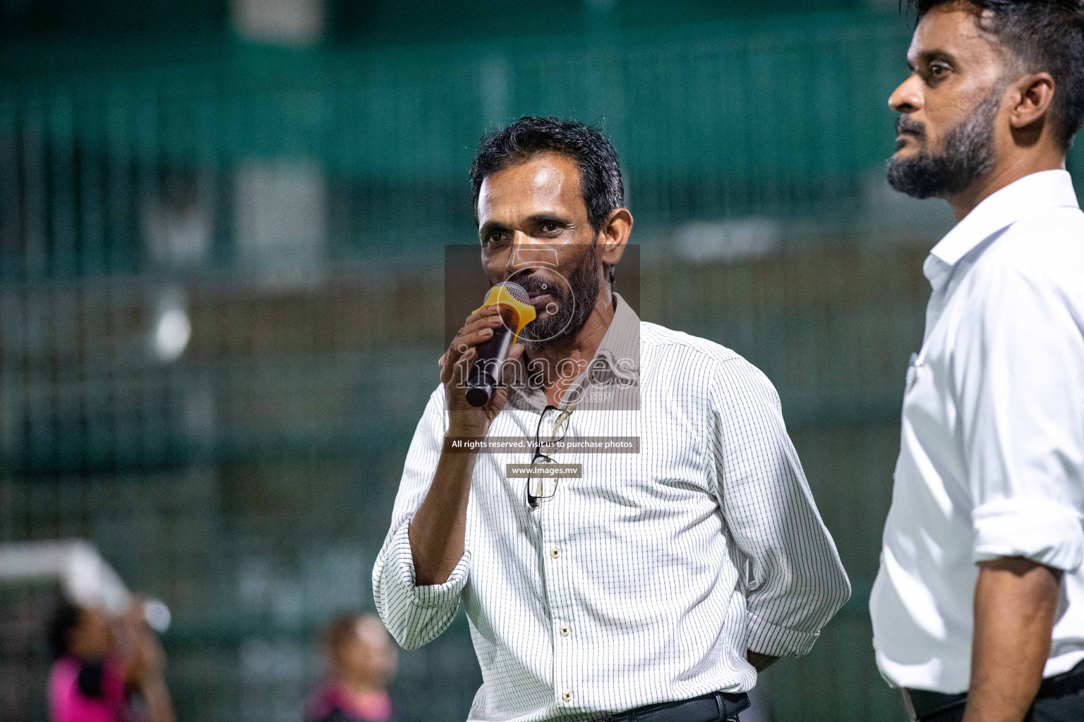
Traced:
[[624, 206], [621, 167], [605, 135], [578, 120], [524, 116], [507, 128], [487, 133], [478, 144], [470, 165], [475, 219], [482, 181], [540, 153], [559, 153], [576, 160], [588, 222], [595, 233], [612, 210]]

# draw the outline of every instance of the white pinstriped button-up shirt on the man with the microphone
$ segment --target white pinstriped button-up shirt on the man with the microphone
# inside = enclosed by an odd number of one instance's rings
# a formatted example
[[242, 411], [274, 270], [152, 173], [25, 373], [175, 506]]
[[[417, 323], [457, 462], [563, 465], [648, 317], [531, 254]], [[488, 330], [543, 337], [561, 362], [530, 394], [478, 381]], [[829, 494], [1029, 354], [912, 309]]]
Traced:
[[[558, 455], [582, 477], [562, 478], [534, 510], [526, 480], [505, 475], [531, 455], [480, 454], [466, 551], [439, 586], [415, 586], [408, 524], [448, 429], [442, 388], [418, 423], [374, 598], [406, 648], [440, 634], [463, 602], [483, 679], [470, 720], [583, 719], [747, 691], [747, 649], [808, 653], [850, 594], [767, 379], [620, 300], [596, 358], [627, 345], [629, 329], [640, 410], [577, 408], [567, 433], [638, 436], [638, 454]], [[533, 438], [539, 411], [519, 406], [489, 438]]]

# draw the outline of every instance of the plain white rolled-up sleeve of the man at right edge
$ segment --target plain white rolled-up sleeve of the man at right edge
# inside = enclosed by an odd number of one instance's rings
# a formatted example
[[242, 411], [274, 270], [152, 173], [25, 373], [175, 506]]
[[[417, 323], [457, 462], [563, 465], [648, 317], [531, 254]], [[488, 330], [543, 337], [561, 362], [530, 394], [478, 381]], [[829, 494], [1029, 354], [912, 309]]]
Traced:
[[1080, 296], [1037, 267], [999, 263], [953, 355], [973, 503], [973, 559], [1084, 560], [1084, 334]]

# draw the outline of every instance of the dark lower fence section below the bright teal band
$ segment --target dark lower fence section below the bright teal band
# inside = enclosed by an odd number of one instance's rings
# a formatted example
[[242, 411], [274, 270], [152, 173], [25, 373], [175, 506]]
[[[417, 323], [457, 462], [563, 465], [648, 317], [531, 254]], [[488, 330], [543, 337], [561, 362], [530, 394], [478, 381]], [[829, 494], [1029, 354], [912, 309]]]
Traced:
[[[864, 604], [900, 379], [921, 334], [920, 259], [811, 247], [644, 268], [645, 319], [738, 349], [775, 380], [855, 580], [814, 654], [764, 675], [780, 721], [895, 709]], [[371, 604], [369, 568], [437, 383], [440, 273], [340, 266], [285, 290], [189, 281], [192, 340], [168, 363], [147, 340], [160, 288], [118, 278], [0, 293], [0, 540], [89, 538], [166, 600], [183, 719], [296, 719], [319, 673], [317, 627]], [[404, 656], [398, 688], [416, 719], [455, 720], [478, 684], [461, 619]]]

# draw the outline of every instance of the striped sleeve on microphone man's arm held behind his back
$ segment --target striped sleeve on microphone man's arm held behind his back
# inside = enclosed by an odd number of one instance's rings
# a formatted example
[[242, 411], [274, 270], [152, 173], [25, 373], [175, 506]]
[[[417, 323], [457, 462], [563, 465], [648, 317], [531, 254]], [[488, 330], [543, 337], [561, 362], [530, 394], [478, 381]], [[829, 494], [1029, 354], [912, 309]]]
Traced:
[[[725, 368], [722, 368], [725, 366]], [[748, 560], [747, 646], [800, 656], [851, 594], [767, 378], [723, 362], [710, 399], [720, 506]]]

